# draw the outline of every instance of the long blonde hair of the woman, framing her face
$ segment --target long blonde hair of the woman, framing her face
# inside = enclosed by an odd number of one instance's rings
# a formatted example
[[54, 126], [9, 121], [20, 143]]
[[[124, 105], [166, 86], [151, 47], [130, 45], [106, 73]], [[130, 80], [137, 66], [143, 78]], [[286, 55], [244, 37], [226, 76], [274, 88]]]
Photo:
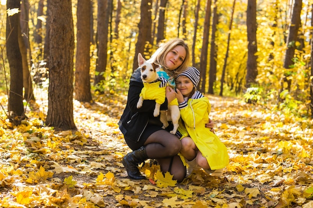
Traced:
[[[173, 71], [169, 71], [166, 68], [165, 65], [165, 56], [167, 55], [168, 52], [170, 52], [174, 47], [176, 47], [177, 45], [182, 46], [185, 51], [186, 51], [186, 57], [184, 58], [184, 60], [182, 61], [181, 65], [178, 66], [176, 69], [174, 69]], [[164, 71], [172, 76], [172, 77], [176, 77], [176, 75], [178, 75], [183, 69], [187, 68], [187, 66], [189, 66], [189, 61], [190, 61], [190, 57], [189, 57], [189, 47], [188, 45], [184, 42], [184, 40], [180, 39], [180, 38], [174, 38], [171, 39], [165, 43], [163, 43], [152, 55], [151, 58], [149, 59], [149, 62], [154, 62], [155, 64], [159, 64], [163, 67]]]

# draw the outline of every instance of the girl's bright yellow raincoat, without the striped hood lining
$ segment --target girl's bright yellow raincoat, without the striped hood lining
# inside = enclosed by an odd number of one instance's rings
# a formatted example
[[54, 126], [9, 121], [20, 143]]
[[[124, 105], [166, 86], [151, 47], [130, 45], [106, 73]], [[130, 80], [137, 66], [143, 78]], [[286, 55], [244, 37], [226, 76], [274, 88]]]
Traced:
[[182, 134], [181, 138], [189, 135], [206, 158], [210, 169], [216, 170], [225, 168], [229, 164], [229, 158], [225, 145], [210, 129], [205, 128], [210, 111], [211, 105], [207, 97], [188, 99], [187, 106], [180, 109], [183, 124], [179, 122], [178, 131]]

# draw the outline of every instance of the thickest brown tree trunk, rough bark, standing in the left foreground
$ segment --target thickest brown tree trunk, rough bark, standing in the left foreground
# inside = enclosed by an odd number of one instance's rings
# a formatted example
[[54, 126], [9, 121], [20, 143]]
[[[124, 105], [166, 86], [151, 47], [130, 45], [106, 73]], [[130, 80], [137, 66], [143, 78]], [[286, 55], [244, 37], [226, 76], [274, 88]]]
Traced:
[[73, 119], [74, 30], [71, 0], [49, 4], [49, 87], [45, 124], [57, 130], [75, 130]]

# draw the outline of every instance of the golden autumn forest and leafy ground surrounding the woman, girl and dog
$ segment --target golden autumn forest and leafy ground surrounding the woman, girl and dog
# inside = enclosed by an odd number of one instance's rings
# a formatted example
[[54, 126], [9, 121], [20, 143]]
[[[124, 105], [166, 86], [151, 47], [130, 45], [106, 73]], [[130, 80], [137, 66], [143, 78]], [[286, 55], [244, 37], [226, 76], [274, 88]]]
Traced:
[[[153, 207], [310, 207], [312, 3], [1, 0], [1, 205], [140, 207], [152, 206], [147, 197], [153, 194], [158, 196]], [[230, 149], [231, 162], [222, 180], [192, 176], [185, 187], [171, 190], [166, 189], [171, 184], [168, 176], [162, 181], [157, 173], [153, 175], [153, 168], [145, 167], [158, 184], [140, 187], [120, 179], [125, 173], [118, 161], [129, 150], [116, 122], [129, 77], [137, 67], [136, 54], [149, 58], [159, 44], [174, 37], [190, 46], [192, 65], [201, 71], [199, 90], [218, 95], [210, 95], [212, 105], [216, 100], [219, 107], [214, 119], [219, 137]], [[92, 114], [88, 125], [78, 119], [90, 118], [87, 109], [105, 117], [105, 132], [97, 129], [103, 133], [101, 138], [94, 138], [98, 135], [91, 127], [98, 124], [93, 120], [97, 116]], [[240, 111], [243, 117], [233, 117], [238, 121], [222, 115], [236, 112], [238, 116]], [[262, 121], [250, 120], [262, 113]], [[66, 131], [77, 130], [77, 125], [80, 132]], [[259, 125], [263, 131], [271, 125], [275, 130], [260, 136]], [[91, 136], [86, 136], [88, 131]], [[248, 142], [251, 135], [254, 142]], [[111, 137], [120, 139], [114, 143], [120, 154], [105, 146], [112, 143]], [[264, 147], [267, 142], [270, 145]], [[113, 158], [106, 158], [111, 154]], [[107, 162], [99, 164], [94, 155]], [[82, 167], [86, 163], [89, 166]], [[109, 163], [111, 168], [105, 168]], [[57, 177], [52, 178], [53, 173]], [[79, 177], [86, 173], [88, 183]], [[27, 189], [19, 189], [21, 184]], [[186, 192], [187, 185], [192, 194]], [[130, 197], [129, 191], [149, 194]], [[99, 192], [104, 194], [99, 197]]]

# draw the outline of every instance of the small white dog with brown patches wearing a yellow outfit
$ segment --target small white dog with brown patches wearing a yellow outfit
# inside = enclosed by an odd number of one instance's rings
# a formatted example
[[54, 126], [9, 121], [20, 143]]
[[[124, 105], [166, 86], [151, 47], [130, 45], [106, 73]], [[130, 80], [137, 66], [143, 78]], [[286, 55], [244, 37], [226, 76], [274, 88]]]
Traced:
[[146, 62], [141, 53], [138, 53], [138, 65], [141, 69], [140, 73], [143, 88], [137, 102], [137, 108], [141, 108], [143, 100], [155, 100], [153, 116], [156, 117], [160, 115], [160, 121], [163, 124], [163, 129], [168, 126], [168, 121], [171, 120], [173, 123], [173, 130], [169, 133], [175, 134], [178, 128], [178, 120], [180, 117], [177, 99], [168, 104], [170, 116], [168, 116], [167, 112], [165, 111], [161, 111], [160, 114], [160, 105], [165, 100], [165, 90], [167, 86], [167, 80], [163, 77], [159, 77], [157, 74], [160, 66], [154, 63]]

